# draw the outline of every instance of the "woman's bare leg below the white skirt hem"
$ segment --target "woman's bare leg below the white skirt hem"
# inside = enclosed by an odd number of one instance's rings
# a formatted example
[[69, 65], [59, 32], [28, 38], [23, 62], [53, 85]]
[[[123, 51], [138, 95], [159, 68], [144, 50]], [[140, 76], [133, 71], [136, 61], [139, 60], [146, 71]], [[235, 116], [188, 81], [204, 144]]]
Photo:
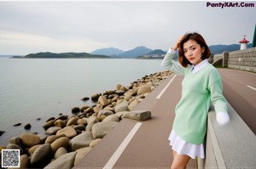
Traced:
[[189, 163], [190, 157], [188, 155], [178, 155], [176, 151], [173, 150], [173, 161], [172, 169], [185, 169]]

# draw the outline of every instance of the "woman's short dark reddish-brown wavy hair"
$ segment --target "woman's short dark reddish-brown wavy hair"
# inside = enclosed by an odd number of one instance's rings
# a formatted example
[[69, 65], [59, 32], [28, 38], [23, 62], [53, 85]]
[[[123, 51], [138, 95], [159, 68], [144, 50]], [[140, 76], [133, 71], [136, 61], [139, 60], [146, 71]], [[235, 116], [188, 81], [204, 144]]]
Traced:
[[184, 51], [183, 51], [183, 44], [184, 42], [187, 42], [189, 41], [189, 39], [191, 40], [194, 40], [195, 42], [197, 42], [201, 48], [205, 48], [205, 51], [204, 53], [202, 54], [201, 56], [201, 59], [208, 59], [210, 58], [211, 56], [211, 51], [210, 51], [210, 48], [207, 46], [207, 42], [204, 40], [203, 37], [201, 37], [201, 35], [199, 33], [196, 33], [196, 32], [189, 32], [189, 33], [186, 33], [180, 44], [179, 44], [179, 50], [178, 50], [178, 61], [181, 65], [183, 65], [183, 67], [187, 67], [188, 65], [192, 65], [188, 59], [186, 59], [185, 55], [184, 55]]

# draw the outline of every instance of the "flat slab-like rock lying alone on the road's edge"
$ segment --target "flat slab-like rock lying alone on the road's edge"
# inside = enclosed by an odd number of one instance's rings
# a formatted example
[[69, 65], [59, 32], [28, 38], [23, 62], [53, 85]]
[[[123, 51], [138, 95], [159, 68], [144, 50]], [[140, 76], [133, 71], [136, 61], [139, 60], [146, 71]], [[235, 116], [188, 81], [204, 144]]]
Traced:
[[122, 115], [122, 118], [129, 118], [137, 121], [145, 121], [151, 118], [151, 111], [133, 110]]

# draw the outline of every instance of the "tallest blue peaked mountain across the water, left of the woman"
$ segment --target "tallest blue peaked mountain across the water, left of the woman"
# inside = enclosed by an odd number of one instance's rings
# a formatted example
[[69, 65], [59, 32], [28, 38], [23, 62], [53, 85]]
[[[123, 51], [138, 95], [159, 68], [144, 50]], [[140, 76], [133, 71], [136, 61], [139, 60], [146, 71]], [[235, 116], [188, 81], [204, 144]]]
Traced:
[[148, 54], [151, 51], [152, 51], [152, 49], [141, 46], [141, 47], [137, 47], [137, 48], [133, 48], [131, 50], [128, 50], [128, 51], [126, 51], [122, 54], [118, 54], [118, 57], [135, 59], [138, 56]]

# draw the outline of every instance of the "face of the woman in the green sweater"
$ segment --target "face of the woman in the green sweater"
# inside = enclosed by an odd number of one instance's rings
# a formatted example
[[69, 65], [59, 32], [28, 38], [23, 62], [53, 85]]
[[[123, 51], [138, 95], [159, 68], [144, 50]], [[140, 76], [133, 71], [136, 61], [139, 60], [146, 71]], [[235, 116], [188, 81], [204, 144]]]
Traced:
[[205, 48], [201, 48], [200, 44], [192, 39], [183, 43], [183, 52], [186, 59], [193, 65], [198, 65], [201, 63], [201, 54], [204, 53]]

